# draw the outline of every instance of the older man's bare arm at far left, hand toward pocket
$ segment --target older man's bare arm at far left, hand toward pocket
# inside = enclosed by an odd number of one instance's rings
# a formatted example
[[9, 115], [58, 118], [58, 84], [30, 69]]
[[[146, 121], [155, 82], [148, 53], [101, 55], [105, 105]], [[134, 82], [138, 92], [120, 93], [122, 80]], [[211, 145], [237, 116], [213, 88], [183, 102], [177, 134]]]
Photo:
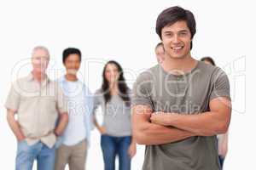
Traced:
[[13, 133], [15, 133], [16, 139], [18, 139], [18, 141], [21, 141], [23, 139], [26, 139], [26, 137], [20, 130], [19, 122], [15, 120], [15, 113], [16, 111], [7, 109], [7, 122]]

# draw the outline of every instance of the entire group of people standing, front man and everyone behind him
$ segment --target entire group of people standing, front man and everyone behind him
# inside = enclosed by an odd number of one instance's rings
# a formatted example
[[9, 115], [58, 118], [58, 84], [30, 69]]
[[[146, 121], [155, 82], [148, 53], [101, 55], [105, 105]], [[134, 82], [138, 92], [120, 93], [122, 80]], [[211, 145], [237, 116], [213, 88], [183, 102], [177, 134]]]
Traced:
[[92, 94], [77, 77], [78, 48], [63, 51], [66, 74], [51, 81], [48, 49], [33, 48], [32, 71], [13, 82], [5, 104], [18, 140], [16, 170], [31, 170], [34, 160], [38, 170], [84, 170], [94, 126], [101, 133], [105, 170], [114, 170], [116, 156], [119, 169], [130, 170], [137, 144], [146, 145], [143, 170], [220, 169], [231, 113], [228, 77], [213, 59], [192, 58], [195, 18], [189, 10], [166, 8], [156, 32], [158, 64], [141, 73], [132, 90], [121, 65], [110, 60], [101, 88]]

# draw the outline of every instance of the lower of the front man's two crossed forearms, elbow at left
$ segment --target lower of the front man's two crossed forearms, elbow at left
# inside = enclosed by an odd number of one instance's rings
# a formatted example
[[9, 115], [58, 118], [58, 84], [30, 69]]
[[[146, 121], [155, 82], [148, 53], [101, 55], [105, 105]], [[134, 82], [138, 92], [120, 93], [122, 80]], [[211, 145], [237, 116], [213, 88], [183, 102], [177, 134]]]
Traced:
[[135, 132], [137, 143], [147, 145], [168, 144], [192, 136], [195, 134], [175, 127], [165, 127], [149, 122], [144, 129]]

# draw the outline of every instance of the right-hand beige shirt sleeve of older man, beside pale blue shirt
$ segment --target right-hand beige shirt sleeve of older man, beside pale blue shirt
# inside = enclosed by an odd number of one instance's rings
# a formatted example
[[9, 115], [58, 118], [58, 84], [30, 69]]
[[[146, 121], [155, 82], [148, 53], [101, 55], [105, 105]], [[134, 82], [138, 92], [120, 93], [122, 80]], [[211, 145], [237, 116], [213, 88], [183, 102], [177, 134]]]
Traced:
[[67, 98], [65, 97], [60, 85], [56, 83], [57, 86], [57, 94], [56, 94], [56, 100], [57, 100], [57, 109], [60, 111], [60, 113], [67, 113]]

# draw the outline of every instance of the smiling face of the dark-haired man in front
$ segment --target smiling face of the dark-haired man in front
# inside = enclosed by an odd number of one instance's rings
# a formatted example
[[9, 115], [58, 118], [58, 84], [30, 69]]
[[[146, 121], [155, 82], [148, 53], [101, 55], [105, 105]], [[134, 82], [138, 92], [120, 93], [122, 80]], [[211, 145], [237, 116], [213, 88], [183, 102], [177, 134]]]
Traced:
[[185, 21], [163, 27], [161, 36], [166, 54], [171, 58], [183, 59], [190, 53], [191, 33]]

